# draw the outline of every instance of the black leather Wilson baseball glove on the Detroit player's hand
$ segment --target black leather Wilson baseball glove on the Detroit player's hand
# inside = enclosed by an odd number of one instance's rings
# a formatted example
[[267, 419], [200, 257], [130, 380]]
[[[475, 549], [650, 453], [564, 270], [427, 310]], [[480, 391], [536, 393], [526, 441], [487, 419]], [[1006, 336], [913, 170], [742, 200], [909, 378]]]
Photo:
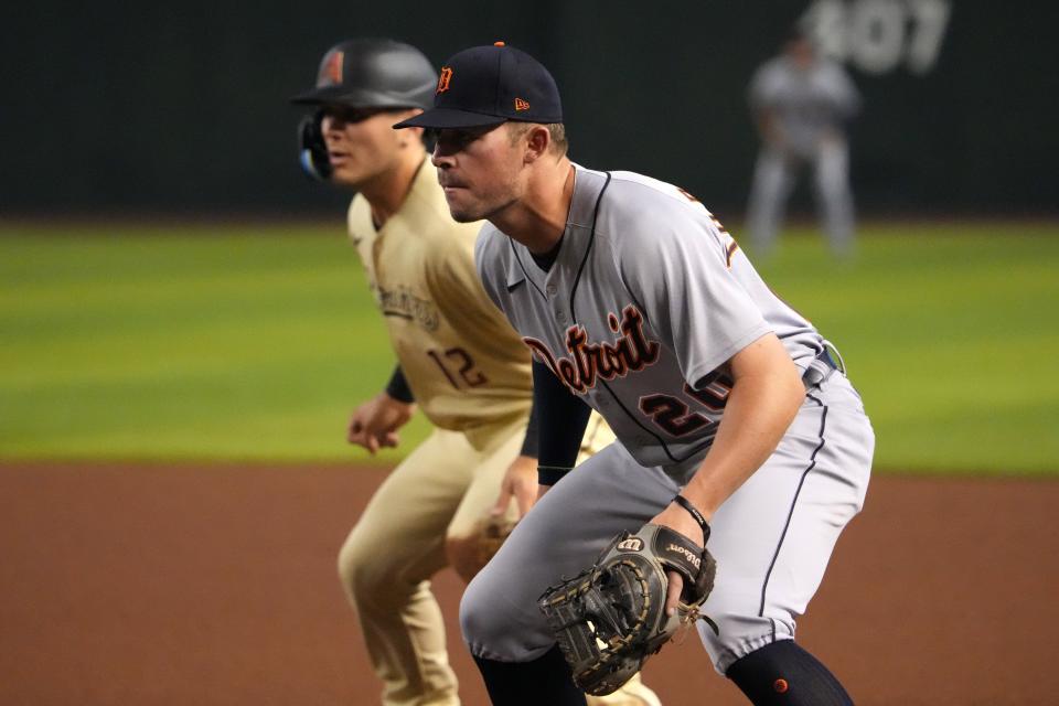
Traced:
[[[538, 600], [574, 672], [574, 683], [605, 696], [621, 687], [676, 633], [702, 618], [717, 564], [684, 535], [648, 524], [614, 537], [596, 564], [549, 588]], [[668, 578], [684, 579], [676, 614], [665, 614]]]

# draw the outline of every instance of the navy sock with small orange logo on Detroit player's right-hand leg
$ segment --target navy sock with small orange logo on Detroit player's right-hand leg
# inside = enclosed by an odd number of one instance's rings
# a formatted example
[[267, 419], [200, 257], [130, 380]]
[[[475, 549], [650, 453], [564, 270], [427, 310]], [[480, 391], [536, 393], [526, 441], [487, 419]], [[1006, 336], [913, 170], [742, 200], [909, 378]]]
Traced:
[[835, 675], [793, 640], [737, 660], [726, 676], [755, 706], [853, 706]]

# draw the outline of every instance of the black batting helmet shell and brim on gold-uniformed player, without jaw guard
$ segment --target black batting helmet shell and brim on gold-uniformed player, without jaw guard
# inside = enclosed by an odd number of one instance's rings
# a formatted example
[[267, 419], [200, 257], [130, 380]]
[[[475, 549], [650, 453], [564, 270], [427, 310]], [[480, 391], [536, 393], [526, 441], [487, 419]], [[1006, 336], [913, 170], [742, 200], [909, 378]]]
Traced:
[[299, 105], [354, 108], [429, 108], [438, 74], [415, 46], [386, 39], [355, 39], [323, 55], [312, 90], [291, 98]]

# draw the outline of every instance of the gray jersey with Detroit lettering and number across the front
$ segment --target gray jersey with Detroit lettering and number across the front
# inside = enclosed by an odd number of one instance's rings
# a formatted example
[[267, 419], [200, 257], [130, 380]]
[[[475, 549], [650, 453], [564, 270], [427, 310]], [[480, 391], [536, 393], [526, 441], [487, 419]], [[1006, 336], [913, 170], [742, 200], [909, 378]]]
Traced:
[[631, 172], [577, 168], [549, 271], [491, 224], [475, 260], [538, 360], [643, 466], [702, 460], [730, 391], [723, 364], [749, 343], [772, 331], [802, 368], [823, 349], [702, 203]]

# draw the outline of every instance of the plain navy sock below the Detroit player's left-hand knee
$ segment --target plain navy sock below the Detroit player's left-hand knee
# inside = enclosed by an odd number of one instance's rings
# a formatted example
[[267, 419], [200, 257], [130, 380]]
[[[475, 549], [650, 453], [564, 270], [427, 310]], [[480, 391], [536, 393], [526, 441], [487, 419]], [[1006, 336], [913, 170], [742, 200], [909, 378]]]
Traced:
[[585, 706], [559, 645], [532, 662], [474, 657], [494, 706]]

